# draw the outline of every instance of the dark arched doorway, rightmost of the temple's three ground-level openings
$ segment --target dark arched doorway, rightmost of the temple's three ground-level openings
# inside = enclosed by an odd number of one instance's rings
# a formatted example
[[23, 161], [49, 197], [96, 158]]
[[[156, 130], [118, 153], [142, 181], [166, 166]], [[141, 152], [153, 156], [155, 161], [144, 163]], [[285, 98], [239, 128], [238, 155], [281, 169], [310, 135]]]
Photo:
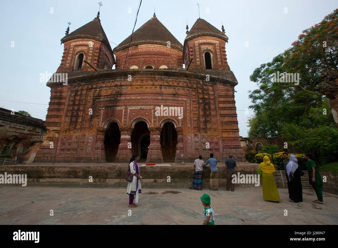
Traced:
[[161, 131], [162, 158], [166, 162], [175, 162], [177, 133], [173, 123], [166, 122]]

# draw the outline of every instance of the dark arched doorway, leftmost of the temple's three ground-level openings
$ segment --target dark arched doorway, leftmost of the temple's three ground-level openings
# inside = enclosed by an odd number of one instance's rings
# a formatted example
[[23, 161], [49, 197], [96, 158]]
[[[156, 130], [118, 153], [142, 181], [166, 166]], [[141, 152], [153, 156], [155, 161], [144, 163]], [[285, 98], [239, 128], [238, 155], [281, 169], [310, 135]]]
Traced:
[[106, 150], [106, 161], [114, 162], [117, 150], [119, 149], [121, 133], [119, 125], [116, 122], [109, 124], [108, 130], [104, 136], [104, 147]]

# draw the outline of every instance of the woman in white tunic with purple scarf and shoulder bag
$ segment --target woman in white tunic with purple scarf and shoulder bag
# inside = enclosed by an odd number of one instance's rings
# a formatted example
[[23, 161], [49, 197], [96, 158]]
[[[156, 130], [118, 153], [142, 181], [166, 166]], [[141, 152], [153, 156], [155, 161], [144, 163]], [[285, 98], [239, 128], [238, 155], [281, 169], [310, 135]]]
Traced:
[[[139, 194], [141, 194], [141, 180], [140, 180], [140, 172], [139, 172], [139, 165], [136, 163], [136, 161], [139, 160], [139, 155], [135, 153], [132, 155], [129, 163], [129, 169], [131, 174], [133, 174], [133, 178], [131, 182], [128, 182], [127, 187], [127, 194], [129, 195], [129, 207], [135, 208], [137, 207], [137, 203], [139, 203]], [[135, 203], [134, 201], [135, 196]]]

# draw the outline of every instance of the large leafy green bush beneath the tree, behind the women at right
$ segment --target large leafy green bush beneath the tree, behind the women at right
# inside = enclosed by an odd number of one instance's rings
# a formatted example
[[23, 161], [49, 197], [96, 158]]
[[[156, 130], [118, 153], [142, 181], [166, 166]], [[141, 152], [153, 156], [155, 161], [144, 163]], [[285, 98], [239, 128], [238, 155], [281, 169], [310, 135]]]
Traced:
[[282, 135], [300, 153], [312, 153], [319, 163], [338, 160], [338, 128], [335, 125], [304, 128], [283, 124]]

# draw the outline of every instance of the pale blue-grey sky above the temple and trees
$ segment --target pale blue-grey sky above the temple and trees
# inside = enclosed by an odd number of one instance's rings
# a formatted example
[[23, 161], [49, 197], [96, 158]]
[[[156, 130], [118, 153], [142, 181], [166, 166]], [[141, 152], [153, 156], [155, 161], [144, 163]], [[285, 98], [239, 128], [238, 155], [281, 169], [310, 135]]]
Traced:
[[[139, 0], [101, 2], [101, 25], [113, 49], [131, 34]], [[143, 0], [135, 30], [152, 18], [155, 8], [158, 20], [183, 44], [187, 22], [190, 30], [199, 17], [197, 2], [200, 17], [219, 30], [223, 23], [229, 37], [225, 48], [238, 81], [239, 134], [247, 137], [247, 119], [253, 114], [245, 111], [251, 104], [248, 90], [258, 88], [249, 76], [333, 12], [338, 1]], [[50, 88], [40, 74], [54, 73], [60, 65], [67, 23], [72, 23], [71, 33], [92, 21], [98, 8], [97, 0], [0, 0], [0, 107], [46, 119]]]

